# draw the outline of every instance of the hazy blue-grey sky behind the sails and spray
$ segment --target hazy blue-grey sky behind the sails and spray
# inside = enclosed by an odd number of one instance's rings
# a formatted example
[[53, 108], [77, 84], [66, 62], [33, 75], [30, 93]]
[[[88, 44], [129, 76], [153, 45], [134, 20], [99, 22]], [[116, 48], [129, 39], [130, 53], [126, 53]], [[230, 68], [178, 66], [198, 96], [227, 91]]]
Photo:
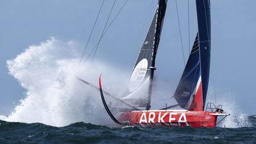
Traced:
[[[80, 59], [101, 2], [0, 1], [0, 115], [7, 116], [14, 111], [27, 91], [9, 74], [7, 60], [14, 59], [28, 47], [39, 45], [51, 37], [60, 41], [76, 41]], [[103, 5], [85, 52], [86, 56], [100, 38], [113, 2], [108, 0]], [[113, 20], [124, 2], [116, 2], [110, 20]], [[187, 2], [178, 1], [185, 59], [188, 58], [188, 48], [192, 46], [197, 31], [195, 4], [190, 1], [188, 40]], [[101, 40], [95, 60], [104, 60], [116, 68], [130, 72], [145, 39], [156, 4], [155, 0], [128, 0]], [[215, 89], [217, 103], [222, 104], [223, 97], [229, 95], [228, 101], [235, 101], [246, 114], [255, 114], [256, 108], [255, 5], [254, 0], [211, 1], [212, 57], [208, 92], [211, 96], [208, 97], [209, 100], [214, 100], [212, 95]], [[169, 95], [174, 93], [184, 69], [178, 28], [175, 1], [169, 0], [155, 72], [156, 84], [167, 85]]]

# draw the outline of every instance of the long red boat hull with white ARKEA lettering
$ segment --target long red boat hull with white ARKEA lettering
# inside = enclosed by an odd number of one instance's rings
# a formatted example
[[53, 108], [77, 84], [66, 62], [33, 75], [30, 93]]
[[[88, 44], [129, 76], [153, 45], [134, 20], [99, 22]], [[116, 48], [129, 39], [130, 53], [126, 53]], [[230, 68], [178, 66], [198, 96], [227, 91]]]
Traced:
[[125, 124], [167, 127], [215, 127], [217, 116], [208, 111], [149, 110], [119, 113]]

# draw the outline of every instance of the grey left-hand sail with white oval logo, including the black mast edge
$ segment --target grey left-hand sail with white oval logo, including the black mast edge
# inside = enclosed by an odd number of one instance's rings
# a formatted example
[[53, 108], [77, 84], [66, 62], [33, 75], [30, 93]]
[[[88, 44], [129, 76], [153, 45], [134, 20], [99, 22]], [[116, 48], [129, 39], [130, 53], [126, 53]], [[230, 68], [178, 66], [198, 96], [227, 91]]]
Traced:
[[167, 0], [158, 1], [158, 7], [153, 16], [148, 34], [140, 48], [132, 75], [130, 76], [129, 85], [122, 98], [122, 100], [136, 107], [150, 108], [155, 57], [161, 36], [162, 24], [164, 23], [166, 7]]

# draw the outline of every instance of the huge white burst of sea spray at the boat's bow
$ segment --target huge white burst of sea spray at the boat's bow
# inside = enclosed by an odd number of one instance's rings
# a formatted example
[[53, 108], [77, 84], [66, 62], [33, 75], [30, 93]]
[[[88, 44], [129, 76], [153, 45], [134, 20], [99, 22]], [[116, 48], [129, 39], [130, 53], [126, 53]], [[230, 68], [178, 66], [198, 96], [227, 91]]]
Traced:
[[79, 82], [76, 76], [98, 86], [98, 76], [103, 73], [105, 89], [114, 94], [121, 88], [122, 78], [127, 76], [99, 61], [83, 62], [78, 68], [80, 56], [74, 41], [65, 43], [51, 38], [7, 60], [10, 75], [27, 92], [4, 120], [52, 126], [66, 126], [77, 121], [112, 124], [101, 104], [100, 93]]

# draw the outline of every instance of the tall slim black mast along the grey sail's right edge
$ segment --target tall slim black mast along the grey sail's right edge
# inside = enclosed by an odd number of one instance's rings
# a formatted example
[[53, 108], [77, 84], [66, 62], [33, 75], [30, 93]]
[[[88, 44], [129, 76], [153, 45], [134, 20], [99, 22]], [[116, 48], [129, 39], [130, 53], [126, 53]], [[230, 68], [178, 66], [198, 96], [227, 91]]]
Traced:
[[162, 30], [162, 24], [164, 23], [164, 16], [165, 11], [167, 8], [167, 0], [159, 0], [158, 1], [158, 7], [156, 9], [156, 24], [155, 24], [155, 36], [153, 40], [153, 52], [152, 52], [152, 63], [149, 69], [151, 70], [151, 83], [149, 85], [149, 91], [148, 91], [148, 101], [146, 105], [146, 110], [149, 110], [151, 108], [151, 94], [152, 94], [152, 81], [153, 81], [153, 73], [156, 70], [155, 68], [155, 59], [156, 59], [156, 52], [158, 50], [158, 45], [161, 37], [161, 30]]

